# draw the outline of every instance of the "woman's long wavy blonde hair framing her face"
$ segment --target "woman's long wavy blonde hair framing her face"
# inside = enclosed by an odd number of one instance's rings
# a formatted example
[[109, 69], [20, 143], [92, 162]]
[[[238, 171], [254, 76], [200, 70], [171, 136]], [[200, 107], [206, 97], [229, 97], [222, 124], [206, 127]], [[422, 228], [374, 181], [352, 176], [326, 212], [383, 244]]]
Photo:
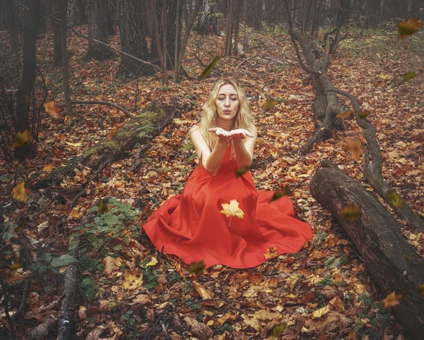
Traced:
[[216, 127], [216, 98], [218, 97], [220, 87], [227, 84], [230, 84], [235, 88], [239, 101], [239, 107], [237, 109], [237, 114], [234, 117], [234, 121], [232, 121], [231, 129], [235, 130], [237, 128], [244, 128], [245, 130], [252, 132], [252, 129], [254, 128], [254, 119], [250, 113], [249, 102], [247, 102], [247, 97], [245, 92], [242, 90], [242, 87], [240, 87], [235, 79], [220, 79], [218, 82], [216, 82], [216, 84], [213, 86], [213, 89], [209, 93], [209, 97], [204, 104], [204, 110], [200, 120], [201, 134], [211, 149], [213, 145], [215, 145], [218, 137], [215, 133], [208, 132], [208, 129]]

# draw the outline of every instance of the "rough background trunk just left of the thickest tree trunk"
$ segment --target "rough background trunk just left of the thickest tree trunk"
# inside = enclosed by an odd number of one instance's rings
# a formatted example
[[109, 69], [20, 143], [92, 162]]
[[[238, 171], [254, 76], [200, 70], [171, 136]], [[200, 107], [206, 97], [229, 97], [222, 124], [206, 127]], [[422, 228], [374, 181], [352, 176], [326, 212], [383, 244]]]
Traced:
[[[88, 37], [107, 44], [106, 6], [101, 0], [90, 0], [88, 10]], [[112, 57], [108, 47], [98, 42], [88, 41], [87, 58], [105, 60]]]

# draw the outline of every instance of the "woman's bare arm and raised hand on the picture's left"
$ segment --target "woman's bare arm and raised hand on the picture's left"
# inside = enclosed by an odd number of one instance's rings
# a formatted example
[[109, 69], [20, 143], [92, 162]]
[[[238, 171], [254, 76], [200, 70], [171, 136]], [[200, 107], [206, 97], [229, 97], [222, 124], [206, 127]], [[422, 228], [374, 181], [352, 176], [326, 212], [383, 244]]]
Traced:
[[225, 149], [227, 148], [231, 134], [223, 129], [220, 129], [219, 131], [216, 128], [209, 130], [213, 130], [211, 132], [215, 132], [216, 135], [218, 135], [218, 140], [216, 141], [212, 152], [205, 142], [199, 127], [192, 128], [190, 131], [190, 137], [192, 138], [194, 149], [196, 149], [197, 157], [199, 157], [199, 162], [201, 162], [201, 165], [206, 169], [206, 171], [208, 171], [209, 174], [215, 176], [218, 173], [221, 162], [223, 162]]

